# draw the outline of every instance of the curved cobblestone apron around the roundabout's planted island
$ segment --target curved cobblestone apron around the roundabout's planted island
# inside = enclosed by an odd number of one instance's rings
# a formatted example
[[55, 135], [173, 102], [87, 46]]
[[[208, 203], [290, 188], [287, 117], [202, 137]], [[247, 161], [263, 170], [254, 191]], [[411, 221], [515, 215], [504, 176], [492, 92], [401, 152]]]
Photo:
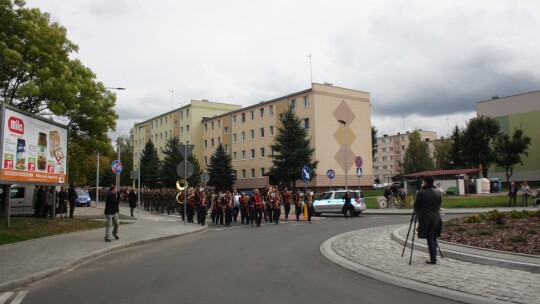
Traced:
[[429, 265], [425, 263], [429, 255], [418, 250], [413, 251], [409, 265], [410, 249], [401, 257], [403, 246], [391, 239], [392, 232], [400, 227], [342, 234], [323, 244], [321, 251], [361, 274], [467, 303], [540, 303], [540, 274], [440, 257], [437, 265]]

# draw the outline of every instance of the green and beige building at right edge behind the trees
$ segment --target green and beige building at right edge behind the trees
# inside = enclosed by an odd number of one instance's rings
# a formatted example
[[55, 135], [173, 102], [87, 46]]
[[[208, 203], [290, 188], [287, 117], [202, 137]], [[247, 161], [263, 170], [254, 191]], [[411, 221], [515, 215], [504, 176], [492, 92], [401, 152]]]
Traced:
[[[531, 138], [531, 145], [528, 156], [522, 155], [523, 165], [514, 167], [511, 180], [540, 180], [540, 91], [477, 102], [476, 113], [494, 118], [501, 126], [501, 132], [510, 136], [516, 128], [523, 129]], [[488, 176], [506, 180], [505, 170], [496, 165], [490, 166]]]

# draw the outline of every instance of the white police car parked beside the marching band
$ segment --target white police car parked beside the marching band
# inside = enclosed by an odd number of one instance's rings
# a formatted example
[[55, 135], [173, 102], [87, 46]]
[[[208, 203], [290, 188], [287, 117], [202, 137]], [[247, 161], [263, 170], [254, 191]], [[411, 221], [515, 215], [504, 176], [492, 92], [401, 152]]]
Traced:
[[324, 192], [313, 202], [315, 215], [319, 216], [322, 213], [340, 213], [343, 214], [343, 197], [347, 191], [351, 192], [351, 203], [354, 206], [355, 216], [358, 216], [362, 211], [366, 210], [366, 203], [360, 190], [332, 190]]

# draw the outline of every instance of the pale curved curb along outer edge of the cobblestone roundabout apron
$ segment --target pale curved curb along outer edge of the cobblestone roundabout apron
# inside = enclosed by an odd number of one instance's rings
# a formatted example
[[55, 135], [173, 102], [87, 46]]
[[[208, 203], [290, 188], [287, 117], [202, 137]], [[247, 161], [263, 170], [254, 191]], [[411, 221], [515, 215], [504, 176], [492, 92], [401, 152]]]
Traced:
[[[357, 231], [359, 231], [359, 230], [357, 230]], [[385, 283], [392, 284], [392, 285], [395, 285], [395, 286], [399, 286], [399, 287], [403, 287], [403, 288], [423, 292], [423, 293], [430, 294], [430, 295], [435, 295], [435, 296], [438, 296], [438, 297], [442, 297], [442, 298], [446, 298], [446, 299], [450, 299], [450, 300], [454, 300], [454, 301], [460, 301], [460, 302], [464, 302], [464, 303], [475, 303], [475, 304], [477, 304], [477, 303], [478, 304], [494, 304], [494, 303], [503, 304], [503, 303], [507, 303], [507, 302], [504, 302], [504, 301], [499, 301], [499, 300], [495, 300], [495, 299], [488, 299], [488, 298], [485, 298], [485, 297], [480, 297], [480, 296], [464, 293], [464, 292], [457, 291], [457, 290], [451, 290], [451, 289], [446, 289], [446, 288], [442, 288], [442, 287], [438, 287], [438, 286], [434, 286], [434, 285], [420, 283], [420, 282], [414, 281], [412, 279], [396, 277], [396, 276], [384, 273], [384, 272], [382, 272], [380, 270], [377, 270], [375, 268], [371, 268], [371, 267], [367, 267], [367, 266], [364, 266], [364, 265], [361, 265], [361, 264], [354, 263], [354, 262], [342, 257], [341, 255], [337, 254], [332, 249], [332, 243], [334, 242], [334, 240], [336, 240], [336, 239], [338, 239], [338, 238], [340, 238], [340, 237], [342, 237], [342, 236], [344, 236], [344, 235], [346, 235], [348, 233], [351, 233], [351, 232], [347, 232], [347, 233], [343, 233], [343, 234], [334, 236], [334, 237], [324, 241], [320, 246], [321, 253], [327, 259], [329, 259], [330, 261], [332, 261], [332, 262], [334, 262], [334, 263], [336, 263], [336, 264], [338, 264], [338, 265], [340, 265], [340, 266], [342, 266], [344, 268], [347, 268], [347, 269], [352, 270], [352, 271], [354, 271], [354, 272], [356, 272], [358, 274], [365, 275], [367, 277], [370, 277], [372, 279], [375, 279], [375, 280], [378, 280], [378, 281], [381, 281], [381, 282], [385, 282]]]

